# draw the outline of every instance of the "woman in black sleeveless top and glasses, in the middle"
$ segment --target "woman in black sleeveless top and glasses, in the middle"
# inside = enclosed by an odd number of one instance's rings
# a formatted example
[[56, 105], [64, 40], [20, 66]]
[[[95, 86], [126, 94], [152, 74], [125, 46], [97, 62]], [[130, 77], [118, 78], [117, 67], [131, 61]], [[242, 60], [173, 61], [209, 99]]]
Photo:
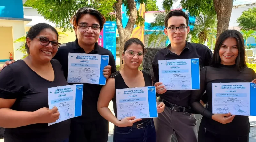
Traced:
[[[134, 116], [117, 120], [116, 89], [153, 86], [150, 75], [138, 68], [144, 56], [144, 45], [137, 38], [131, 38], [124, 44], [122, 58], [124, 68], [111, 74], [100, 91], [98, 111], [101, 116], [115, 125], [114, 142], [156, 142], [156, 130], [152, 118], [136, 119]], [[115, 116], [108, 108], [113, 101]], [[157, 106], [158, 113], [164, 111], [164, 103]], [[139, 126], [139, 127], [138, 127]]]

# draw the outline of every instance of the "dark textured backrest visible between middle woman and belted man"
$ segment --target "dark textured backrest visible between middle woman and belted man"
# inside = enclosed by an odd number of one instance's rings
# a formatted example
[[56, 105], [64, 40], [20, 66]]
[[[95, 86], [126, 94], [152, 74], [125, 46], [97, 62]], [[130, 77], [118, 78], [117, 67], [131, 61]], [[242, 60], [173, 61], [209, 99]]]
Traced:
[[152, 66], [152, 61], [153, 61], [153, 57], [155, 56], [156, 52], [159, 51], [160, 49], [163, 49], [165, 47], [154, 47], [154, 46], [146, 46], [144, 53], [145, 56], [143, 58], [143, 71], [149, 73], [150, 72], [150, 68]]

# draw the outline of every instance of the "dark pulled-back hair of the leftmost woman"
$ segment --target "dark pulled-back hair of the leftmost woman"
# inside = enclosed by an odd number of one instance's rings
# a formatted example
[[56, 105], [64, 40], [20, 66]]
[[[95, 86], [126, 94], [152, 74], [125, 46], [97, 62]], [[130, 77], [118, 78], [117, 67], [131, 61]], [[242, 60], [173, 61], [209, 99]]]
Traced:
[[[55, 32], [57, 34], [57, 40], [58, 40], [59, 34], [58, 34], [57, 30], [53, 26], [46, 24], [46, 23], [38, 23], [38, 24], [32, 26], [28, 31], [26, 39], [30, 38], [31, 40], [33, 40], [34, 37], [37, 36], [44, 29], [51, 29], [53, 32]], [[27, 50], [27, 53], [30, 54], [27, 42], [25, 43], [25, 48]]]

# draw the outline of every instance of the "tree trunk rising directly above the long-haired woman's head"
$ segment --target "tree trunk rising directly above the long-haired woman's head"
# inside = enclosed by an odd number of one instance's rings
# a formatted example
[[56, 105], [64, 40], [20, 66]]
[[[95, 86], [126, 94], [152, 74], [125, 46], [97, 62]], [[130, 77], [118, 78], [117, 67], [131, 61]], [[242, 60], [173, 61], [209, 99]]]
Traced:
[[217, 14], [217, 35], [216, 41], [220, 34], [228, 29], [230, 16], [233, 7], [233, 0], [213, 0], [215, 11]]

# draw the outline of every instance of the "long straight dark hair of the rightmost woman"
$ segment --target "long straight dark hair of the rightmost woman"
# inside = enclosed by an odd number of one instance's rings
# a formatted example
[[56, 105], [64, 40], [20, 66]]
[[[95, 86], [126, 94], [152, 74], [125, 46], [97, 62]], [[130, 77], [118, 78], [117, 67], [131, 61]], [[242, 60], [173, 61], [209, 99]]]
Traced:
[[215, 44], [213, 58], [210, 66], [218, 67], [220, 65], [220, 61], [221, 61], [220, 55], [219, 55], [220, 47], [222, 43], [227, 38], [230, 38], [230, 37], [235, 38], [238, 44], [238, 56], [236, 57], [236, 67], [237, 67], [237, 70], [240, 71], [242, 68], [247, 67], [247, 65], [245, 62], [244, 38], [243, 38], [243, 35], [237, 30], [226, 30], [220, 34]]

